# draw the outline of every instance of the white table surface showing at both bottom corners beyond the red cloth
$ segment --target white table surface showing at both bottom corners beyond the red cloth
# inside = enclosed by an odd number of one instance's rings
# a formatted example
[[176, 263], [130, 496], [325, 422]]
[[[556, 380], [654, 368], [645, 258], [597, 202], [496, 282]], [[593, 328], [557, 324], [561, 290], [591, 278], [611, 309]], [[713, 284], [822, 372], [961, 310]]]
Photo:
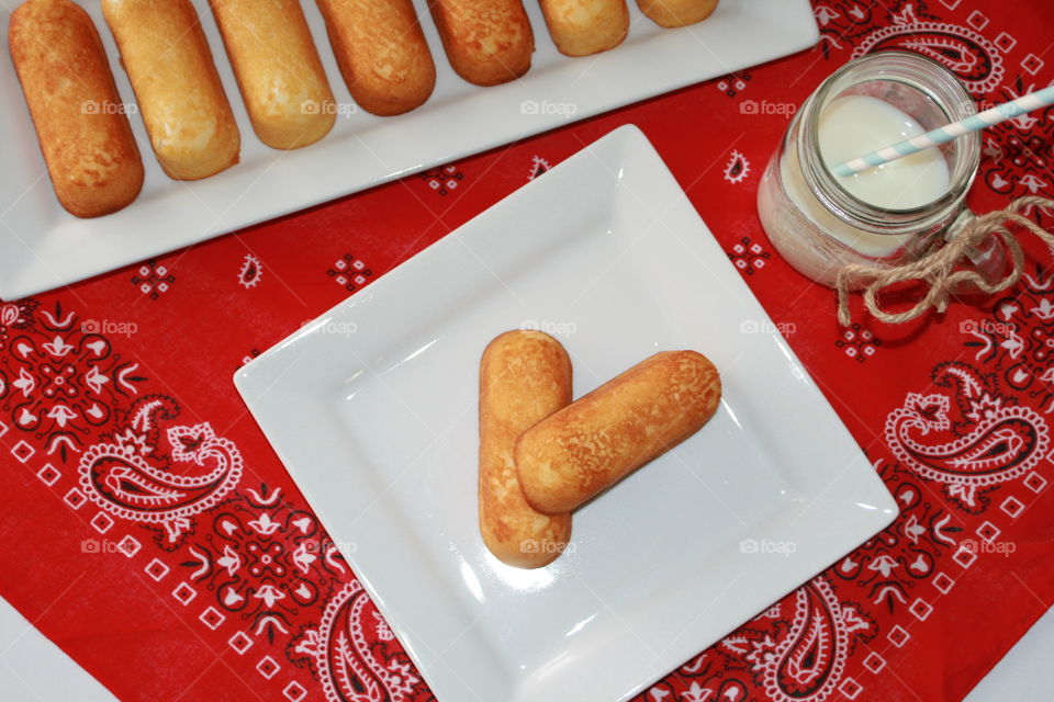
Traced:
[[[1036, 622], [965, 702], [1054, 699], [1054, 609]], [[0, 690], [4, 702], [113, 702], [94, 678], [0, 599]]]

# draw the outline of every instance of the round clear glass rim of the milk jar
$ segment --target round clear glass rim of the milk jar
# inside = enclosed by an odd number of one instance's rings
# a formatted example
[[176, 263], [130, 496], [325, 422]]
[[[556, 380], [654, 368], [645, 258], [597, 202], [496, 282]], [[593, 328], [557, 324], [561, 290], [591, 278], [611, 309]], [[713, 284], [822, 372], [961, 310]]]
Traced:
[[[911, 73], [907, 75], [907, 71]], [[895, 235], [939, 226], [962, 207], [974, 182], [980, 162], [979, 133], [966, 134], [949, 143], [957, 152], [948, 191], [937, 200], [915, 207], [881, 207], [861, 200], [849, 192], [822, 161], [819, 120], [828, 102], [853, 86], [877, 80], [910, 86], [929, 97], [949, 121], [961, 120], [976, 112], [973, 95], [953, 72], [937, 60], [899, 49], [861, 56], [820, 83], [797, 115], [801, 120], [798, 151], [803, 166], [807, 165], [803, 168], [803, 177], [821, 204], [853, 227], [874, 234]]]

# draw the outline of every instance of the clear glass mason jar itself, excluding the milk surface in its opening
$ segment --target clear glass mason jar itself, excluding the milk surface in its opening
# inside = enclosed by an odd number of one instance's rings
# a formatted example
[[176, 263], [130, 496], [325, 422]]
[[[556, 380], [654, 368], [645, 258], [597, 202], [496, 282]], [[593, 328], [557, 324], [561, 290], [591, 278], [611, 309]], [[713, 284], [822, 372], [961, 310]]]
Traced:
[[[820, 115], [831, 101], [846, 95], [887, 102], [926, 131], [976, 112], [973, 98], [953, 73], [907, 52], [851, 60], [806, 99], [762, 177], [758, 212], [784, 259], [829, 286], [849, 263], [885, 269], [917, 260], [940, 237], [951, 236], [973, 218], [964, 199], [980, 160], [980, 136], [974, 132], [938, 147], [948, 165], [949, 189], [933, 202], [906, 210], [864, 202], [841, 185], [820, 156]], [[995, 242], [971, 258], [989, 279], [1003, 262]]]

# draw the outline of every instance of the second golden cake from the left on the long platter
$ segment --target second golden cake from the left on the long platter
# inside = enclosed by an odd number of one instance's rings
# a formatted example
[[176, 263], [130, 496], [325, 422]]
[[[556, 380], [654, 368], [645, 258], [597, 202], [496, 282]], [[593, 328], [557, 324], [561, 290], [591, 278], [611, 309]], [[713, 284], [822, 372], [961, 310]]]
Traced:
[[240, 137], [189, 0], [102, 0], [161, 168], [208, 178], [238, 162]]

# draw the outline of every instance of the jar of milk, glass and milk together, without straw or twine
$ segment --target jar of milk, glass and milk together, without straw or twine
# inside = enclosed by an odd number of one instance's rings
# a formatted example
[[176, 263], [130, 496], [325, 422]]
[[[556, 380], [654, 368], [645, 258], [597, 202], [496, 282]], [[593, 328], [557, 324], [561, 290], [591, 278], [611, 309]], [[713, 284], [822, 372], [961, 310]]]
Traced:
[[852, 176], [830, 168], [972, 110], [961, 83], [923, 57], [885, 52], [846, 64], [803, 104], [762, 179], [759, 216], [776, 250], [830, 286], [846, 264], [923, 254], [965, 211], [975, 135]]

